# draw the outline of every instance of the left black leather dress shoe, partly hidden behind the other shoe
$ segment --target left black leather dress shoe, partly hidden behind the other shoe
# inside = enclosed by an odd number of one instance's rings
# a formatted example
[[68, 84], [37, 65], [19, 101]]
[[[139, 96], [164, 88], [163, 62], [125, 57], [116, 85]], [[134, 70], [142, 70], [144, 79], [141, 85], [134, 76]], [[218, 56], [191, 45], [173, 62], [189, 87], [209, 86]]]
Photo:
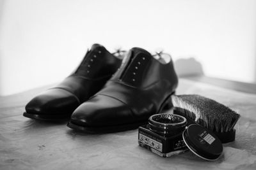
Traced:
[[102, 89], [121, 63], [120, 56], [115, 57], [104, 46], [93, 45], [74, 73], [29, 101], [24, 117], [40, 120], [70, 118], [81, 103]]

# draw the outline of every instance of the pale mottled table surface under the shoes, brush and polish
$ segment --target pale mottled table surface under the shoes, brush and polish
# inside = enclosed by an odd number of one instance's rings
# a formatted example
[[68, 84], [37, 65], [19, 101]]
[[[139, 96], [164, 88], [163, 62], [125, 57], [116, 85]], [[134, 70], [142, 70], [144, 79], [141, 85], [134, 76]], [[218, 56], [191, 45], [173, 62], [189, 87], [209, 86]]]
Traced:
[[163, 158], [138, 146], [138, 129], [83, 134], [67, 122], [38, 122], [24, 106], [49, 87], [0, 97], [0, 169], [256, 169], [256, 95], [180, 79], [177, 94], [200, 94], [241, 115], [236, 141], [209, 162], [191, 152]]

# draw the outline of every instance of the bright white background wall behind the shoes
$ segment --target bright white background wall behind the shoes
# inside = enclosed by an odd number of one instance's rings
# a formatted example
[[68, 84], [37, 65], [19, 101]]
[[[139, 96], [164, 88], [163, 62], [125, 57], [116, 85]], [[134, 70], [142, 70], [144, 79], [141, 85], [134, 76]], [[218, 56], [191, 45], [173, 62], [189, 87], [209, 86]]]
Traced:
[[95, 42], [160, 47], [255, 83], [256, 1], [0, 0], [0, 95], [62, 80]]

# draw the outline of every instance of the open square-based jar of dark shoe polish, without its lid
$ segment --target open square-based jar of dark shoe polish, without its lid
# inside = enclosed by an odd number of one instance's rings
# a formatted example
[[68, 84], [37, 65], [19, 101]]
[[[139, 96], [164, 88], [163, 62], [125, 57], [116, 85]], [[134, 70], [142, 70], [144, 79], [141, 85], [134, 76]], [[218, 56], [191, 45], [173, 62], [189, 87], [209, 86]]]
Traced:
[[161, 157], [172, 157], [188, 150], [182, 133], [186, 118], [173, 114], [152, 115], [148, 124], [139, 127], [138, 143]]

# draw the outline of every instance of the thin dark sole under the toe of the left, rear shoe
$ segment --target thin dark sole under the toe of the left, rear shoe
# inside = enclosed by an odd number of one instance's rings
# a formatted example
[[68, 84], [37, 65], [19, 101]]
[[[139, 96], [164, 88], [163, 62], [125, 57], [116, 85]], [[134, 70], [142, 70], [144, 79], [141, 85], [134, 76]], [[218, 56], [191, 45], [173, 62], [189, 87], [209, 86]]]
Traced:
[[31, 114], [31, 113], [24, 112], [23, 116], [27, 118], [33, 118], [35, 120], [63, 121], [63, 120], [68, 120], [71, 114], [63, 115], [62, 117], [60, 117], [60, 115], [40, 115], [40, 114]]

